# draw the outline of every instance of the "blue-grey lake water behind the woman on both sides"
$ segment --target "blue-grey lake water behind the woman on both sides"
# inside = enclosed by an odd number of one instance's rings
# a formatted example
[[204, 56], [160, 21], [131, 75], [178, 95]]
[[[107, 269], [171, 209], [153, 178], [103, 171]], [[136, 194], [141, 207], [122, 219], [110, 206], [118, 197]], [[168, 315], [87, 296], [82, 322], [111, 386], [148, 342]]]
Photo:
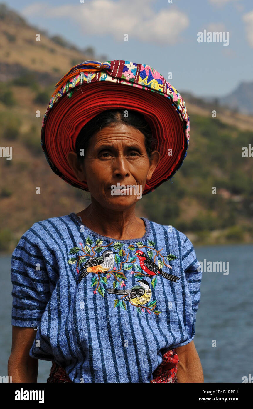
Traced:
[[[195, 247], [198, 261], [229, 262], [229, 274], [203, 272], [194, 343], [205, 382], [242, 382], [253, 375], [253, 245]], [[0, 375], [11, 352], [11, 257], [0, 257]], [[213, 347], [213, 340], [216, 347]], [[51, 362], [39, 360], [38, 382]]]

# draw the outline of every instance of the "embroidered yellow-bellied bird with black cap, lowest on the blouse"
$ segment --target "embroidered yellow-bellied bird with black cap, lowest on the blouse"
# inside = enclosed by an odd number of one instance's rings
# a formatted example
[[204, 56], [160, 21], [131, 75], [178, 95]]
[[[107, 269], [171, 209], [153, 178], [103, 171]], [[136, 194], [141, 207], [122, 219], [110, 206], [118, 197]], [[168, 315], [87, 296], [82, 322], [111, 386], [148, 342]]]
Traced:
[[125, 300], [130, 301], [135, 305], [145, 305], [151, 299], [151, 289], [149, 283], [142, 279], [138, 280], [140, 285], [135, 285], [131, 290], [121, 290], [119, 288], [107, 288], [109, 294], [126, 295]]

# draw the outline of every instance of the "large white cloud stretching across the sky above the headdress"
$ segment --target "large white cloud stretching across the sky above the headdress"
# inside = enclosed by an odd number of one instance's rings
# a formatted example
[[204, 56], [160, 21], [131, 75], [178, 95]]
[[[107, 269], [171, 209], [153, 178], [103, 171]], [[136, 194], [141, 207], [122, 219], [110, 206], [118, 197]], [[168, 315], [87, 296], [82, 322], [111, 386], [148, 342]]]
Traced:
[[[166, 4], [160, 11], [152, 8], [154, 0], [88, 0], [79, 4], [51, 6], [33, 3], [22, 10], [25, 17], [68, 18], [80, 27], [82, 34], [104, 36], [111, 34], [122, 41], [141, 40], [155, 44], [175, 44], [180, 33], [189, 26], [186, 13]], [[178, 31], [178, 29], [180, 29]]]

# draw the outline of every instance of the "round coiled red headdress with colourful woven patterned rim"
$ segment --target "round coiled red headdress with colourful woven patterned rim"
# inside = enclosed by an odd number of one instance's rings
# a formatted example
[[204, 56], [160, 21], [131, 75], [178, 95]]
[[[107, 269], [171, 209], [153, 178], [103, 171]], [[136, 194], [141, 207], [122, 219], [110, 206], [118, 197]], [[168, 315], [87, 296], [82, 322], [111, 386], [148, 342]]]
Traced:
[[[130, 86], [126, 86], [130, 85]], [[76, 179], [68, 153], [82, 127], [100, 112], [113, 108], [142, 113], [157, 139], [161, 160], [142, 195], [172, 178], [182, 166], [189, 144], [190, 122], [184, 100], [149, 65], [113, 60], [84, 61], [55, 85], [43, 117], [41, 145], [48, 164], [65, 182], [89, 191]]]

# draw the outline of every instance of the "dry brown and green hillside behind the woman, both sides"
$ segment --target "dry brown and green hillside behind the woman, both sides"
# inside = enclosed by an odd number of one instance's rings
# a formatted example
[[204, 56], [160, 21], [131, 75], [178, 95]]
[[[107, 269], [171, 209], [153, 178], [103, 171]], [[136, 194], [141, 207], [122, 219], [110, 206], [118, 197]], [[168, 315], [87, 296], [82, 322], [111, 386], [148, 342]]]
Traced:
[[[108, 58], [95, 56], [88, 44], [85, 54], [46, 33], [36, 42], [41, 31], [3, 5], [0, 22], [0, 146], [12, 146], [13, 155], [12, 160], [0, 158], [0, 251], [10, 253], [34, 222], [78, 212], [90, 203], [89, 193], [51, 171], [40, 128], [60, 77], [75, 63]], [[253, 117], [190, 96], [185, 100], [191, 122], [187, 157], [171, 181], [138, 202], [137, 214], [173, 225], [194, 245], [252, 243], [253, 167], [252, 158], [242, 157], [242, 147], [253, 142]], [[217, 118], [211, 116], [213, 109]]]

